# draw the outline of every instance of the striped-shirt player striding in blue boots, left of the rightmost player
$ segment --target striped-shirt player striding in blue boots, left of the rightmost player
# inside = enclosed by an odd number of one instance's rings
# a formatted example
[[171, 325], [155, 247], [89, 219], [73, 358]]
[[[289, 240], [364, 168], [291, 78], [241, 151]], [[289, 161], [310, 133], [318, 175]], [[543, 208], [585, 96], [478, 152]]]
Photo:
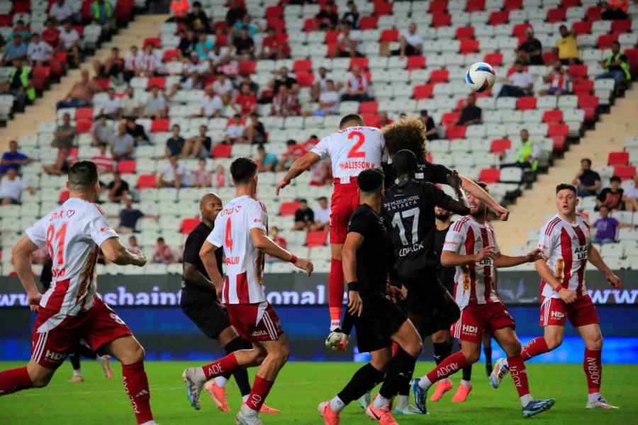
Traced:
[[[483, 189], [485, 183], [478, 183]], [[452, 325], [454, 337], [461, 340], [461, 351], [442, 361], [420, 380], [412, 382], [416, 407], [425, 413], [427, 389], [459, 368], [478, 361], [481, 355], [483, 329], [490, 332], [508, 355], [523, 416], [529, 417], [550, 409], [554, 399], [532, 399], [527, 385], [527, 370], [520, 356], [520, 341], [514, 331], [514, 319], [496, 295], [496, 268], [531, 263], [542, 258], [535, 249], [526, 256], [500, 253], [496, 234], [486, 221], [486, 205], [467, 193], [470, 215], [454, 223], [447, 232], [441, 255], [443, 266], [457, 266], [454, 276], [454, 298], [461, 308], [461, 318]]]

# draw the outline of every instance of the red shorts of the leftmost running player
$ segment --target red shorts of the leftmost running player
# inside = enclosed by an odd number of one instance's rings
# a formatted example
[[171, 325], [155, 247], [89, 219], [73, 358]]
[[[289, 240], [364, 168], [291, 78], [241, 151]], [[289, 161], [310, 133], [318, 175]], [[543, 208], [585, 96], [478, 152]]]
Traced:
[[89, 311], [67, 316], [57, 327], [39, 333], [38, 327], [49, 317], [46, 310], [38, 313], [31, 341], [31, 358], [45, 368], [55, 369], [61, 365], [67, 354], [75, 350], [80, 339], [97, 350], [121, 336], [133, 335], [116, 312], [98, 297]]

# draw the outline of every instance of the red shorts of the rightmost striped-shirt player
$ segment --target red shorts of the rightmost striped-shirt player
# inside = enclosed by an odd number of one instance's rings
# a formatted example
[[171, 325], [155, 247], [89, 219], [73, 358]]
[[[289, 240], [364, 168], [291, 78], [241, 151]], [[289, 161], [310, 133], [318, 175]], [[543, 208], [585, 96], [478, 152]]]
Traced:
[[565, 326], [565, 317], [573, 327], [600, 323], [596, 307], [589, 295], [578, 297], [571, 304], [565, 304], [560, 298], [542, 298], [541, 301], [541, 327]]

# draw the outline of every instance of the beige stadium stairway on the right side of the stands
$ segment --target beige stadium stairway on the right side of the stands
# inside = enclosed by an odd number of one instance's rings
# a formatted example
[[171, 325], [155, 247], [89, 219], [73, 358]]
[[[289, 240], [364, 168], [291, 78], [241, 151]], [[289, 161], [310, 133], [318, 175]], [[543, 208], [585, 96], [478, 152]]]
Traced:
[[588, 130], [578, 145], [571, 145], [563, 158], [556, 159], [549, 173], [538, 176], [531, 191], [525, 191], [515, 205], [509, 206], [508, 222], [493, 222], [498, 244], [505, 254], [510, 254], [515, 246], [525, 246], [527, 234], [539, 230], [547, 215], [556, 213], [556, 185], [571, 183], [580, 169], [582, 158], [591, 159], [592, 169], [600, 169], [607, 166], [609, 152], [622, 151], [625, 137], [638, 135], [636, 111], [638, 84], [633, 84], [624, 98], [616, 99], [611, 113], [600, 115], [594, 130]]

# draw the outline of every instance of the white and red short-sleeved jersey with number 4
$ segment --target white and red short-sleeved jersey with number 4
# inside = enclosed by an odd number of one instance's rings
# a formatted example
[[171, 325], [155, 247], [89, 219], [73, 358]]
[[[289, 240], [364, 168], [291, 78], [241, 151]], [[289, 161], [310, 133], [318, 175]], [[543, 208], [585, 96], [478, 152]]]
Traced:
[[255, 248], [251, 229], [268, 232], [266, 205], [240, 196], [224, 206], [215, 220], [213, 232], [206, 240], [223, 246], [226, 257], [226, 276], [222, 302], [254, 304], [266, 301], [264, 293], [264, 253]]

